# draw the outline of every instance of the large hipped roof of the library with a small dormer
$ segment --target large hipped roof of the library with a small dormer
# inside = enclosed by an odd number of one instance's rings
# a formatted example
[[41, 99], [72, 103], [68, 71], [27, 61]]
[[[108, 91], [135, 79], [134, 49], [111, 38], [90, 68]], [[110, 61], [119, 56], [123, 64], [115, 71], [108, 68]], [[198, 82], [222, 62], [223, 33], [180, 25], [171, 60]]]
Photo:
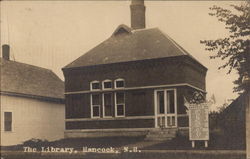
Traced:
[[158, 28], [131, 30], [126, 25], [120, 25], [110, 38], [64, 68], [182, 55], [188, 55], [193, 58]]

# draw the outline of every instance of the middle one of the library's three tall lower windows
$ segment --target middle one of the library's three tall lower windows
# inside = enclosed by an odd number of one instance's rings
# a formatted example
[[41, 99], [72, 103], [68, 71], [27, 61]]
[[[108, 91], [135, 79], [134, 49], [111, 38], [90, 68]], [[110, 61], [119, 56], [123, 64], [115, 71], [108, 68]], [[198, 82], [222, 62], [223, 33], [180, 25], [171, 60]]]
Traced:
[[112, 117], [112, 93], [103, 94], [103, 117]]

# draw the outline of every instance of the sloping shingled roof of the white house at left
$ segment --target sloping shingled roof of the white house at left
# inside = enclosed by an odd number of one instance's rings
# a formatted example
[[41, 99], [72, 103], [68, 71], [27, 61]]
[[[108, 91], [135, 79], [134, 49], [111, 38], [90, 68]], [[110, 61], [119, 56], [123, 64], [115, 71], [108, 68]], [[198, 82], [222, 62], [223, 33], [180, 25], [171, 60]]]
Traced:
[[51, 70], [0, 58], [0, 91], [8, 94], [64, 98], [64, 82]]

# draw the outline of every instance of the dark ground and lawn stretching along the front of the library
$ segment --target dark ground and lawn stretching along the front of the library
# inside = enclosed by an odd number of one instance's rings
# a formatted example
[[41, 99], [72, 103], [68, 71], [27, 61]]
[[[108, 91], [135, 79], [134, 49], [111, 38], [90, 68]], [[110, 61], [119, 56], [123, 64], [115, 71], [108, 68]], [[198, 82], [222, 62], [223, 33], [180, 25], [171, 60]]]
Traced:
[[[236, 138], [227, 140], [225, 136], [210, 135], [209, 147], [204, 148], [203, 142], [197, 142], [196, 148], [191, 147], [188, 137], [178, 135], [170, 141], [145, 141], [144, 137], [102, 137], [102, 138], [71, 138], [53, 142], [42, 140], [29, 140], [21, 145], [1, 147], [4, 159], [57, 159], [57, 158], [143, 158], [143, 159], [241, 159], [245, 158], [245, 142]], [[37, 148], [37, 152], [23, 152], [23, 147]], [[42, 153], [41, 147], [74, 148], [76, 153]], [[83, 147], [109, 148], [113, 147], [119, 153], [93, 153], [82, 152]], [[123, 148], [137, 152], [124, 152]]]

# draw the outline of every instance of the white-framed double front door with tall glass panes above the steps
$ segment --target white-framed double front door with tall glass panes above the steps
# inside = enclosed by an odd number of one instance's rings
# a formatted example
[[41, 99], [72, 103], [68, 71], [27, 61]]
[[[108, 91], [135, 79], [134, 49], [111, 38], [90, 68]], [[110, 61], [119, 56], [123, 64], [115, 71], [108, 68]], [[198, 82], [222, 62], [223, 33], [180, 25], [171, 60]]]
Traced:
[[175, 89], [155, 90], [155, 127], [177, 127], [177, 101]]

